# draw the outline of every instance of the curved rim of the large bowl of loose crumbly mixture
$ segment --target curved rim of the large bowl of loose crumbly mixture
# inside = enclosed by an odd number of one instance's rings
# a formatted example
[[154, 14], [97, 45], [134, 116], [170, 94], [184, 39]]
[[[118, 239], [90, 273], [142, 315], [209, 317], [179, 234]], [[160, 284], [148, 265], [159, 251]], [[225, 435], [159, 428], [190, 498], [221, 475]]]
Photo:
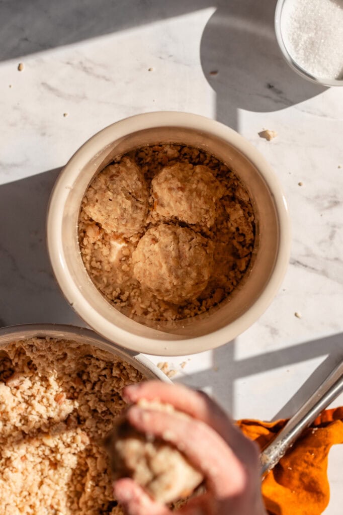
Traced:
[[35, 337], [44, 338], [46, 336], [56, 339], [70, 339], [80, 344], [83, 342], [84, 344], [94, 345], [95, 347], [117, 355], [129, 365], [132, 365], [145, 374], [147, 379], [158, 379], [164, 383], [172, 383], [169, 377], [162, 372], [155, 363], [152, 363], [148, 357], [144, 356], [144, 354], [118, 347], [111, 341], [102, 338], [102, 336], [91, 329], [71, 324], [29, 323], [8, 325], [0, 328], [0, 350], [3, 345], [11, 341]]

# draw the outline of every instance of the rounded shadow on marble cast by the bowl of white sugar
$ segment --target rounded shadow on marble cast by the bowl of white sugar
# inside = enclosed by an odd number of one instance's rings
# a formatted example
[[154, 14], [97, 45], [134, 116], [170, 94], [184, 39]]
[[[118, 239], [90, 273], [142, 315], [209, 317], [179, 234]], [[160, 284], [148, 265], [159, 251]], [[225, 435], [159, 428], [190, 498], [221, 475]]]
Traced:
[[217, 119], [237, 129], [237, 109], [267, 112], [298, 104], [326, 88], [284, 61], [274, 30], [276, 0], [231, 0], [207, 23], [202, 70], [217, 94]]

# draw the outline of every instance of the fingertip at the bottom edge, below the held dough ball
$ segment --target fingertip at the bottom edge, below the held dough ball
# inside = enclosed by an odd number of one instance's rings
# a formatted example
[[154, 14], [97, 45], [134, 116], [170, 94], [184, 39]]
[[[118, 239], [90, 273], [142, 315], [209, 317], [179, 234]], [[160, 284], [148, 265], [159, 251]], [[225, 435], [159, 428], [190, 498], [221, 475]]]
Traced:
[[113, 490], [128, 515], [171, 515], [166, 506], [153, 501], [132, 479], [118, 479]]

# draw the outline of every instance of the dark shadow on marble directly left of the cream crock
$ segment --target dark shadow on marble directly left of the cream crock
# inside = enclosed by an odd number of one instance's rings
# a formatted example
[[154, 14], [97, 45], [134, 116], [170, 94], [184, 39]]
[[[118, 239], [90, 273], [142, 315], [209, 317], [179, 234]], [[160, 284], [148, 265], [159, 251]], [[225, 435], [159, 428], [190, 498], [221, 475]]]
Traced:
[[84, 325], [53, 276], [45, 238], [46, 209], [60, 168], [0, 186], [0, 325]]

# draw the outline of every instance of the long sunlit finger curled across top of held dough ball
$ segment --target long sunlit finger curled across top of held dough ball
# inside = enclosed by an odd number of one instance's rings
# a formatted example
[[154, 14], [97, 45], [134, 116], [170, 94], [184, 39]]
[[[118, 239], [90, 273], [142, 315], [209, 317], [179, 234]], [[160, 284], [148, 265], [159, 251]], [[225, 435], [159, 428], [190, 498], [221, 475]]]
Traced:
[[128, 409], [127, 419], [138, 431], [174, 444], [203, 473], [219, 499], [244, 491], [247, 474], [243, 464], [207, 424], [139, 406]]

